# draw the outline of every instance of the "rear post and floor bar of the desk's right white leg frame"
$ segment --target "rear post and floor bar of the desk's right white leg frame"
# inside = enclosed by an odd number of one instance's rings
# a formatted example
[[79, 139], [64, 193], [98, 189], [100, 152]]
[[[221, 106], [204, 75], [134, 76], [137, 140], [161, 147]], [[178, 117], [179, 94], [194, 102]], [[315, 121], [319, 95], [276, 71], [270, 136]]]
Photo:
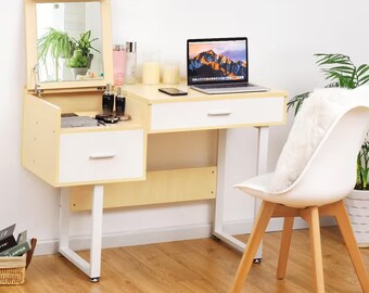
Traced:
[[224, 231], [222, 212], [225, 206], [226, 140], [227, 129], [218, 130], [218, 173], [213, 234], [225, 241], [228, 245], [243, 252], [246, 245], [242, 241]]

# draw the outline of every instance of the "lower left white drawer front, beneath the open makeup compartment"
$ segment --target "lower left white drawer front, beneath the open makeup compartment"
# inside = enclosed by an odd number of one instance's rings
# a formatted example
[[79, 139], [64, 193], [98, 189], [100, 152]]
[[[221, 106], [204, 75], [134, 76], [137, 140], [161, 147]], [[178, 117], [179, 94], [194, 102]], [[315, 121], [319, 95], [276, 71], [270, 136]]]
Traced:
[[60, 183], [143, 177], [143, 130], [65, 133], [60, 139]]

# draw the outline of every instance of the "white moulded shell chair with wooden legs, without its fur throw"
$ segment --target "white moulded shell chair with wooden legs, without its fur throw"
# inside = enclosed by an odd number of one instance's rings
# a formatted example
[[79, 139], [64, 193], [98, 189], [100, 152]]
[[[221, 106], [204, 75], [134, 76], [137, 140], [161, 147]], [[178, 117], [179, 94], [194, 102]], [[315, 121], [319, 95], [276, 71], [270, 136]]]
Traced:
[[366, 268], [357, 247], [343, 199], [356, 180], [356, 157], [369, 128], [369, 107], [357, 106], [329, 127], [298, 178], [285, 190], [269, 192], [272, 174], [257, 176], [237, 187], [263, 200], [245, 252], [237, 271], [232, 292], [240, 292], [271, 217], [284, 217], [277, 278], [285, 276], [294, 217], [309, 227], [315, 291], [325, 292], [319, 216], [334, 216], [355, 267], [361, 289], [369, 292]]

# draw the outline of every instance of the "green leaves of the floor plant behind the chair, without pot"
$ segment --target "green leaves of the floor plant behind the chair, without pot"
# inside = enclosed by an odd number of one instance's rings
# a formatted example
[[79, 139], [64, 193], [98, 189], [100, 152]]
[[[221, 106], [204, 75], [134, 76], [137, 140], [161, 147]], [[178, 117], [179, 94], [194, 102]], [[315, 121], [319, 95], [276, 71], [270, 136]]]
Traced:
[[[344, 54], [315, 54], [318, 58], [317, 64], [321, 66], [326, 80], [329, 84], [327, 88], [341, 87], [354, 89], [360, 87], [369, 81], [369, 65], [361, 64], [356, 66]], [[310, 92], [304, 92], [293, 97], [288, 102], [288, 111], [294, 109], [296, 115], [303, 105], [305, 99], [308, 99]], [[356, 168], [356, 186], [357, 190], [368, 189], [368, 173], [369, 173], [369, 141], [368, 138], [361, 145], [360, 152], [357, 156]]]

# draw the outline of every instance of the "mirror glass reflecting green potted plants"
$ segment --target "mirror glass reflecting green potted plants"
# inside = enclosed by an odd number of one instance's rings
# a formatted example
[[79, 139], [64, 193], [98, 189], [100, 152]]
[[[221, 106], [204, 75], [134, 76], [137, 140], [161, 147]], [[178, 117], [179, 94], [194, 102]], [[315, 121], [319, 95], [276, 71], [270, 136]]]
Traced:
[[99, 2], [37, 3], [38, 80], [103, 78]]

